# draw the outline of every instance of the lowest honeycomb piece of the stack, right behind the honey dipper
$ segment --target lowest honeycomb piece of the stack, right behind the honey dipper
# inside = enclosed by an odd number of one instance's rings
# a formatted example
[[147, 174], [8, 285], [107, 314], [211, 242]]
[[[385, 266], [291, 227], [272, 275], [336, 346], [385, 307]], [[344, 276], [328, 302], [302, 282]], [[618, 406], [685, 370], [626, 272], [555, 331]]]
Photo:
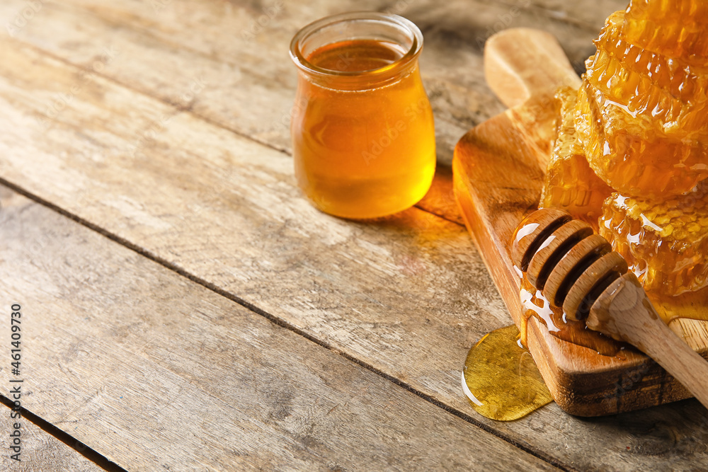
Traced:
[[708, 180], [659, 204], [613, 193], [600, 235], [648, 291], [675, 296], [708, 286]]

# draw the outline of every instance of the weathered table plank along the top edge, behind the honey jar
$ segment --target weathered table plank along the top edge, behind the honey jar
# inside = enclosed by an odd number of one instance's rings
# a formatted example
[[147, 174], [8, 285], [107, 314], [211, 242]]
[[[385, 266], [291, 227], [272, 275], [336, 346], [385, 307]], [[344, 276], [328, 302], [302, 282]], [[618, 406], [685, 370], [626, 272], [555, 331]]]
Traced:
[[[583, 2], [548, 0], [512, 4], [479, 0], [443, 4], [430, 0], [210, 1], [201, 4], [195, 14], [190, 1], [40, 4], [37, 13], [30, 10], [32, 18], [26, 25], [13, 30], [18, 38], [86, 69], [93, 69], [98, 59], [101, 74], [287, 152], [287, 125], [296, 84], [287, 49], [295, 31], [316, 18], [341, 11], [404, 14], [426, 35], [421, 67], [435, 111], [443, 171], [449, 171], [457, 139], [469, 127], [503, 110], [489, 93], [481, 67], [481, 45], [489, 35], [510, 26], [548, 30], [561, 39], [579, 68], [593, 52], [590, 40], [607, 13], [624, 7], [618, 0], [605, 0], [601, 9], [588, 8]], [[23, 8], [27, 6], [21, 0], [5, 2], [0, 6], [0, 18], [13, 24]], [[568, 22], [578, 15], [589, 23], [585, 28]], [[105, 47], [118, 56], [104, 66], [100, 63]], [[200, 93], [191, 92], [195, 89]], [[444, 177], [437, 179], [435, 188], [446, 184]], [[454, 205], [435, 206], [439, 202], [428, 197], [419, 206], [459, 221]]]

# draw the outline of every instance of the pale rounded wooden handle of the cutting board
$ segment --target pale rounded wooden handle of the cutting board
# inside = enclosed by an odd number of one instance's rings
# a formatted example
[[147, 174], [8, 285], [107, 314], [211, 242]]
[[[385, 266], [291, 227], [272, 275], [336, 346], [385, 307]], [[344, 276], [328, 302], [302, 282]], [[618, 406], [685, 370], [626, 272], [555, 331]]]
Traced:
[[554, 35], [532, 28], [510, 28], [491, 36], [484, 46], [484, 75], [508, 108], [561, 86], [581, 86]]

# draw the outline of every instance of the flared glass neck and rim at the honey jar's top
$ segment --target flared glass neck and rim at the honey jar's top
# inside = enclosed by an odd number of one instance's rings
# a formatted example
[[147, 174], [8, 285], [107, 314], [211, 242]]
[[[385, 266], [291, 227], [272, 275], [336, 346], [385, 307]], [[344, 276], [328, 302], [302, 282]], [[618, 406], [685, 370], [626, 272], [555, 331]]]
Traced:
[[[398, 57], [379, 67], [358, 70], [348, 53], [335, 55], [327, 64], [313, 61], [313, 54], [333, 45], [350, 43], [390, 45]], [[323, 18], [302, 28], [290, 43], [290, 57], [300, 74], [319, 86], [363, 90], [392, 84], [416, 71], [423, 49], [418, 27], [389, 13], [344, 13]], [[351, 67], [350, 67], [351, 66]]]

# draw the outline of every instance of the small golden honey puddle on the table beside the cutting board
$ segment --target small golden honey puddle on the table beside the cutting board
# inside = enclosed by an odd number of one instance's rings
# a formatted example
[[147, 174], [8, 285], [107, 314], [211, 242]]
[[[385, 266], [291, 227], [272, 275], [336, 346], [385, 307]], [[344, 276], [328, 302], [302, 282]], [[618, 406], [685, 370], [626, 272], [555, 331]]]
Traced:
[[472, 408], [492, 420], [523, 418], [553, 398], [511, 325], [484, 335], [464, 361], [462, 390]]

